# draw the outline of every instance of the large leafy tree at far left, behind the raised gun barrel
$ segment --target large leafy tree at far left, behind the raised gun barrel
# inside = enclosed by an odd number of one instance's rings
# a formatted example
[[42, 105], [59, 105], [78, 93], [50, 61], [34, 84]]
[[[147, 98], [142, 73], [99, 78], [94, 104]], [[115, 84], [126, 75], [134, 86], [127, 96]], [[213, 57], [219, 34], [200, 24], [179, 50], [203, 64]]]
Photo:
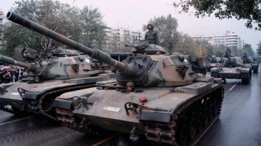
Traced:
[[[70, 29], [68, 27], [74, 20], [65, 18], [65, 15], [74, 14], [68, 4], [52, 0], [16, 1], [15, 4], [17, 6], [12, 8], [13, 11], [58, 33], [68, 35], [75, 31], [74, 28]], [[5, 44], [2, 53], [5, 55], [13, 56], [15, 52], [13, 50], [17, 46], [26, 46], [39, 52], [48, 52], [61, 45], [58, 42], [54, 42], [53, 39], [44, 37], [14, 23], [9, 22], [4, 27], [3, 39]]]

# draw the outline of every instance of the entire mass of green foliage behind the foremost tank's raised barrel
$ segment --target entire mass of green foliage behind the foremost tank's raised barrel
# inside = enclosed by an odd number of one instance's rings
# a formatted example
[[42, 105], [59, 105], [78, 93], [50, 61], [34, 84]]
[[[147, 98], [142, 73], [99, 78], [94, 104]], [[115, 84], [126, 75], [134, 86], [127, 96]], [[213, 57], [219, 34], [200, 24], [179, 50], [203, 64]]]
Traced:
[[[84, 7], [81, 10], [56, 0], [22, 0], [16, 1], [12, 9], [57, 33], [70, 35], [73, 40], [86, 46], [102, 48], [104, 45], [105, 36], [102, 30], [105, 25], [97, 8]], [[44, 52], [62, 45], [13, 22], [8, 22], [3, 27], [3, 55], [13, 57], [17, 46], [29, 47], [45, 55]]]

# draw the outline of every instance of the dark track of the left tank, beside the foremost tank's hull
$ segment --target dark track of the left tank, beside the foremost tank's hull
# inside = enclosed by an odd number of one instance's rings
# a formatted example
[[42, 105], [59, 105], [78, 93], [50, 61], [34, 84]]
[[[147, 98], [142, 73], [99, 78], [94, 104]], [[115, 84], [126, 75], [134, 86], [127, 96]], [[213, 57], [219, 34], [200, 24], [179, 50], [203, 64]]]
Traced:
[[[45, 97], [52, 97], [52, 95], [61, 95], [62, 93], [68, 92], [68, 91], [76, 91], [76, 90], [80, 90], [80, 89], [86, 89], [86, 88], [90, 88], [95, 86], [95, 84], [84, 84], [84, 85], [78, 85], [78, 86], [68, 86], [62, 89], [56, 89], [53, 91], [49, 91], [46, 92], [44, 94], [42, 94], [42, 96], [39, 98], [39, 100], [37, 101], [32, 101], [31, 103], [29, 103], [28, 107], [29, 110], [33, 113], [40, 113], [44, 116], [47, 116], [48, 118], [51, 118], [52, 120], [56, 120], [58, 121], [58, 119], [56, 118], [56, 116], [54, 115], [54, 113], [52, 113], [52, 105], [49, 111], [45, 111], [42, 107], [42, 103], [45, 100]], [[55, 98], [50, 98], [49, 100], [54, 100]]]

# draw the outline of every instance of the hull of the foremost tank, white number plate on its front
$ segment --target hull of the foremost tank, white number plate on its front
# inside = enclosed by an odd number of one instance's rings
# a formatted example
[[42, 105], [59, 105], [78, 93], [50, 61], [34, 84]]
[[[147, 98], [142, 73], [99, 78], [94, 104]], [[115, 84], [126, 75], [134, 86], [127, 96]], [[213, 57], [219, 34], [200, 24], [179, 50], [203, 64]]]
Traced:
[[[168, 137], [170, 139], [165, 141], [160, 136], [152, 136], [153, 132], [157, 135], [159, 127], [153, 129], [151, 123], [152, 125], [156, 125], [156, 127], [157, 125], [174, 127], [173, 123], [182, 120], [182, 114], [190, 115], [190, 113], [193, 113], [190, 111], [191, 109], [203, 110], [203, 108], [209, 107], [209, 110], [205, 113], [206, 116], [209, 116], [209, 121], [203, 128], [207, 129], [219, 117], [221, 112], [223, 100], [223, 84], [221, 82], [221, 79], [219, 79], [219, 83], [211, 83], [209, 80], [203, 82], [203, 80], [200, 80], [200, 82], [176, 88], [141, 87], [139, 91], [143, 91], [142, 93], [121, 93], [115, 89], [83, 89], [77, 91], [77, 93], [76, 91], [72, 91], [59, 96], [56, 98], [55, 107], [60, 111], [70, 111], [74, 117], [77, 117], [74, 119], [81, 119], [79, 120], [81, 124], [85, 123], [81, 127], [95, 126], [131, 134], [135, 129], [135, 134], [145, 134], [148, 140], [175, 145], [179, 136], [171, 135]], [[71, 99], [76, 96], [87, 98], [85, 107], [81, 105], [79, 108], [75, 108]], [[141, 98], [144, 97], [148, 101], [142, 103]], [[70, 106], [62, 104], [65, 102], [70, 104]], [[129, 105], [132, 106], [129, 107]], [[68, 108], [66, 109], [66, 107]], [[65, 117], [61, 113], [58, 118], [61, 122], [70, 122]], [[182, 125], [181, 123], [179, 122], [180, 125]], [[171, 132], [175, 134], [175, 132], [180, 132], [180, 127], [176, 128], [173, 131], [167, 130], [167, 133]], [[74, 129], [79, 129], [79, 127], [74, 127]], [[192, 142], [193, 140], [190, 140], [189, 143]]]

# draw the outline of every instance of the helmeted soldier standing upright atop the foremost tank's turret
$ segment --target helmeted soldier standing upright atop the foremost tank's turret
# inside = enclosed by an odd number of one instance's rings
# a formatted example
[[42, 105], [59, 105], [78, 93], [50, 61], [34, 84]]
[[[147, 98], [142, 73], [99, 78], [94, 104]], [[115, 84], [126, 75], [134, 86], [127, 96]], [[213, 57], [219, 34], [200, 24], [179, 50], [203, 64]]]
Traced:
[[147, 33], [145, 33], [145, 39], [149, 41], [149, 44], [159, 44], [159, 36], [158, 33], [153, 30], [154, 26], [152, 24], [148, 24]]

